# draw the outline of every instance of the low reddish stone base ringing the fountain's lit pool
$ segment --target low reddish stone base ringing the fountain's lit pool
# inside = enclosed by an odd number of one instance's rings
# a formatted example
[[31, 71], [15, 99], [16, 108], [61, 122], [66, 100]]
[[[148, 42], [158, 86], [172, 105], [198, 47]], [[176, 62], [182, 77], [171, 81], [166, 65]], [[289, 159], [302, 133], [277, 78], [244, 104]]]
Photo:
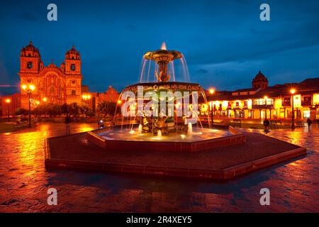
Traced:
[[[103, 134], [103, 131], [106, 130], [106, 134]], [[211, 129], [206, 129], [207, 134], [212, 134], [212, 137], [199, 137], [196, 138], [196, 135], [187, 136], [184, 135], [183, 139], [179, 139], [179, 135], [173, 136], [172, 134], [168, 136], [150, 136], [146, 137], [145, 133], [142, 136], [135, 136], [133, 140], [133, 136], [128, 134], [128, 138], [118, 138], [118, 132], [116, 131], [116, 136], [112, 138], [110, 135], [110, 131], [107, 129], [102, 129], [98, 131], [88, 132], [87, 139], [98, 145], [101, 148], [105, 148], [106, 150], [118, 150], [121, 151], [123, 148], [128, 150], [139, 150], [144, 152], [182, 152], [182, 153], [196, 153], [202, 152], [206, 150], [211, 150], [212, 148], [220, 148], [223, 146], [229, 145], [239, 145], [245, 143], [245, 135], [237, 131], [233, 127], [226, 126], [225, 128], [216, 130], [216, 133]], [[227, 135], [220, 135], [220, 132], [227, 132]], [[135, 132], [135, 134], [138, 132]], [[217, 135], [216, 135], [217, 134]], [[106, 136], [103, 136], [106, 135]], [[176, 139], [177, 137], [177, 139]], [[140, 138], [140, 140], [138, 140]]]

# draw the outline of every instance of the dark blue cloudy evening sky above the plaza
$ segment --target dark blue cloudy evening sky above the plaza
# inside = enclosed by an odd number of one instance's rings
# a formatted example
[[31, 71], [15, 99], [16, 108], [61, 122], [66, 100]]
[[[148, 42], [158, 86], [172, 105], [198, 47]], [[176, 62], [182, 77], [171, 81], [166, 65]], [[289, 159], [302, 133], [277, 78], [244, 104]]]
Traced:
[[[259, 20], [262, 3], [271, 21]], [[319, 76], [319, 1], [1, 1], [0, 28], [0, 84], [18, 84], [29, 40], [45, 65], [60, 65], [74, 44], [83, 84], [97, 92], [138, 82], [142, 55], [163, 41], [205, 88], [250, 87], [259, 70], [271, 85]]]

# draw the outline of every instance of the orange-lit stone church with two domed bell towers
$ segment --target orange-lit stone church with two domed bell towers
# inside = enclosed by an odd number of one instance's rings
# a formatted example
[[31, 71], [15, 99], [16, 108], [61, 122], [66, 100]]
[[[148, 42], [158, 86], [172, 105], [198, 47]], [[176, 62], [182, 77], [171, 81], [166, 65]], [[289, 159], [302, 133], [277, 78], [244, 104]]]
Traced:
[[[82, 101], [81, 57], [74, 46], [65, 54], [65, 62], [60, 67], [51, 63], [44, 66], [38, 48], [32, 42], [22, 48], [20, 54], [21, 85], [33, 84], [35, 91], [31, 101], [55, 104], [72, 104]], [[21, 89], [21, 107], [28, 109], [28, 94]]]

